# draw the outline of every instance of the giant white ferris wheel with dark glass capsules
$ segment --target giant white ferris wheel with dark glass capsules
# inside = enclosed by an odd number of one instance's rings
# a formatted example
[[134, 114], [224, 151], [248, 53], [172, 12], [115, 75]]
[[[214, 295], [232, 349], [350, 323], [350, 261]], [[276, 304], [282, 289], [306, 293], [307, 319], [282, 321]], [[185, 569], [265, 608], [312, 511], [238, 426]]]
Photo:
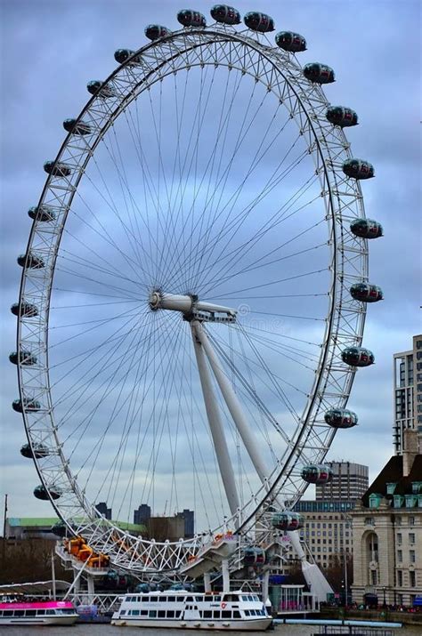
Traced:
[[[69, 528], [112, 563], [177, 572], [228, 528], [291, 512], [324, 457], [359, 366], [368, 239], [352, 109], [302, 67], [303, 36], [223, 4], [207, 26], [145, 29], [87, 86], [37, 205], [22, 266], [17, 350], [28, 445]], [[195, 513], [189, 539], [132, 535], [152, 514]]]

